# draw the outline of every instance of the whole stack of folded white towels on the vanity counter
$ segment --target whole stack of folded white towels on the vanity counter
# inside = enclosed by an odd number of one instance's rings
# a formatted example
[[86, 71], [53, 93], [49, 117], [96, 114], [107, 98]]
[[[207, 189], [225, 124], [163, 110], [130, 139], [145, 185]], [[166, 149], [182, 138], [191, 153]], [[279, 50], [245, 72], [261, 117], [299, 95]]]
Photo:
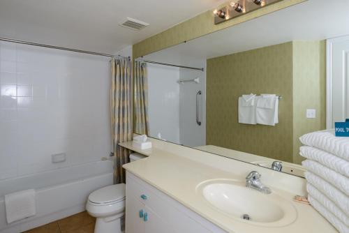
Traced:
[[324, 130], [299, 139], [309, 202], [339, 232], [349, 233], [349, 138]]

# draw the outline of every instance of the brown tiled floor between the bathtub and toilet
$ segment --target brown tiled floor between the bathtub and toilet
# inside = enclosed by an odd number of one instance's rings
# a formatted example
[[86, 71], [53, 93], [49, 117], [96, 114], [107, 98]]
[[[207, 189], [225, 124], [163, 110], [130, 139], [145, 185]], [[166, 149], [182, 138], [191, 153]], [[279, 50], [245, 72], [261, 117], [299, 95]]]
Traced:
[[96, 218], [84, 211], [23, 233], [93, 233]]

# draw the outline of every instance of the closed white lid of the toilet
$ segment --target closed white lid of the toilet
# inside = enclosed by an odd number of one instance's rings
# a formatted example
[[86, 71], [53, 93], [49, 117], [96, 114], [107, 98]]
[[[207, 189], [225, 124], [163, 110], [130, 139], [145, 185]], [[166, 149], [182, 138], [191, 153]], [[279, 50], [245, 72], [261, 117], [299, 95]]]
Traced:
[[116, 202], [117, 200], [124, 199], [125, 197], [125, 184], [118, 183], [112, 186], [106, 186], [100, 188], [89, 195], [89, 201], [96, 204]]

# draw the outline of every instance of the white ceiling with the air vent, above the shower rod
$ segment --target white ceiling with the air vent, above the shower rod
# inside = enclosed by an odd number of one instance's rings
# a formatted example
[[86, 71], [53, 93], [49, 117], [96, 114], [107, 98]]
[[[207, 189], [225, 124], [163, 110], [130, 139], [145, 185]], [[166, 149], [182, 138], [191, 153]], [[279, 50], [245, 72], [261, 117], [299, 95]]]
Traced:
[[[0, 0], [0, 37], [80, 50], [114, 53], [179, 22], [215, 8], [222, 0]], [[132, 17], [142, 31], [119, 26]]]

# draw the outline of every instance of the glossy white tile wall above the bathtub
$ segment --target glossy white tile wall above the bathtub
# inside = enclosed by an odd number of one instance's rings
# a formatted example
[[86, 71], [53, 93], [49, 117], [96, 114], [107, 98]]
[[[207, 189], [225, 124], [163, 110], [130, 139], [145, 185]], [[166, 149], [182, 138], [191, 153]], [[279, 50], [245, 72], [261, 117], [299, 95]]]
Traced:
[[109, 155], [108, 61], [0, 42], [0, 179]]

